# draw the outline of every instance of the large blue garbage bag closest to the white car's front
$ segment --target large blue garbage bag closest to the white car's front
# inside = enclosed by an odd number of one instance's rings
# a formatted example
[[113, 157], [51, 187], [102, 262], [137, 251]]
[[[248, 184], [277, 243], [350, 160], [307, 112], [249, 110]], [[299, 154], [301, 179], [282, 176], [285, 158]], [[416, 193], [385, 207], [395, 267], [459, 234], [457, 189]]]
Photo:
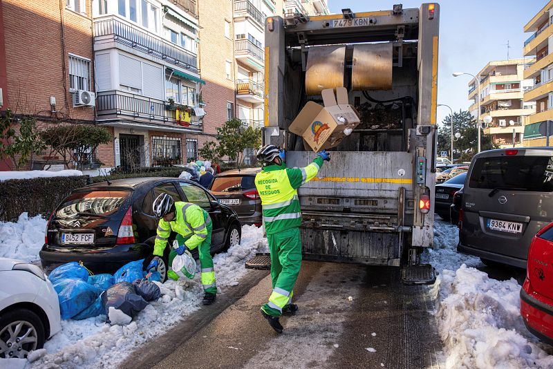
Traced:
[[57, 292], [62, 319], [70, 319], [82, 312], [102, 293], [100, 288], [82, 279], [61, 278], [53, 284]]

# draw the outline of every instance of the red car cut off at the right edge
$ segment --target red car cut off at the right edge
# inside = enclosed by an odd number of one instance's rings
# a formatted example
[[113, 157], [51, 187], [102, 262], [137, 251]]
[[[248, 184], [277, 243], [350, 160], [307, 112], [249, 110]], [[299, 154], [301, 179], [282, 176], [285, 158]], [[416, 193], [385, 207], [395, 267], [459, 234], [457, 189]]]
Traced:
[[553, 344], [553, 223], [538, 231], [528, 251], [521, 315], [532, 334]]

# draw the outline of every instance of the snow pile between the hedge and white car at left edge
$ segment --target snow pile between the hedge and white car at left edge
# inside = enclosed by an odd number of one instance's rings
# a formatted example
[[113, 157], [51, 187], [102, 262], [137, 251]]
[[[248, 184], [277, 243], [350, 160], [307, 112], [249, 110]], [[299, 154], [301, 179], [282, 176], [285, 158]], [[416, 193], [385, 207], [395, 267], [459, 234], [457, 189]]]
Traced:
[[0, 222], [0, 257], [37, 260], [44, 245], [45, 230], [45, 219], [41, 216], [29, 218], [27, 213], [22, 213], [17, 223]]

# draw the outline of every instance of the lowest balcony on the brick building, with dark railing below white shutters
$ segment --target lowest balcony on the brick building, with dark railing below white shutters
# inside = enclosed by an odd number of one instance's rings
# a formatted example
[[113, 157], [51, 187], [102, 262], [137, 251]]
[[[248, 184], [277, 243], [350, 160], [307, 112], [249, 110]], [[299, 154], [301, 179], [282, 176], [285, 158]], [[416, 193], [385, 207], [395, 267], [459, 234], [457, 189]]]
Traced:
[[194, 131], [203, 126], [202, 118], [192, 115], [190, 125], [185, 128], [177, 123], [175, 111], [168, 110], [164, 101], [122, 91], [98, 93], [96, 104], [98, 118], [114, 123], [124, 120], [160, 131]]

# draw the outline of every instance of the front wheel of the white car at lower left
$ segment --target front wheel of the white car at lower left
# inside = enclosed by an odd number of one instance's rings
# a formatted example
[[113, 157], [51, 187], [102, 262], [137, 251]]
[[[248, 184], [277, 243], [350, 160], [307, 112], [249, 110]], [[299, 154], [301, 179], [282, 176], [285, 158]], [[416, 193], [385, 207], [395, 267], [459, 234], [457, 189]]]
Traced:
[[18, 309], [0, 316], [0, 358], [25, 359], [44, 346], [44, 339], [44, 324], [35, 312]]

